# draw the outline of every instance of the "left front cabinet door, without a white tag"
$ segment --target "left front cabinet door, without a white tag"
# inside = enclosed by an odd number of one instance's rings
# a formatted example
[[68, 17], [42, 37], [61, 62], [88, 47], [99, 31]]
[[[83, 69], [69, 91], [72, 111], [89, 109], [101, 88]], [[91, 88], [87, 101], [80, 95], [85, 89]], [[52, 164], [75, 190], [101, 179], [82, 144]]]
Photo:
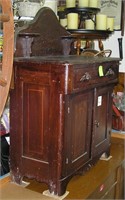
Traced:
[[92, 91], [67, 97], [64, 155], [67, 173], [82, 167], [91, 158], [92, 104]]

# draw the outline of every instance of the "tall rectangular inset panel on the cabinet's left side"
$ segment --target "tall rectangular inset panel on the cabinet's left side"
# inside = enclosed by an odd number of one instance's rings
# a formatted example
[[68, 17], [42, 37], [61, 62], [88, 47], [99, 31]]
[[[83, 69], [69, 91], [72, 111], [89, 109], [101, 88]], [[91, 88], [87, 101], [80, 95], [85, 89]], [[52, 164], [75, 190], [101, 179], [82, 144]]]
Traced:
[[23, 85], [22, 156], [48, 162], [49, 88]]

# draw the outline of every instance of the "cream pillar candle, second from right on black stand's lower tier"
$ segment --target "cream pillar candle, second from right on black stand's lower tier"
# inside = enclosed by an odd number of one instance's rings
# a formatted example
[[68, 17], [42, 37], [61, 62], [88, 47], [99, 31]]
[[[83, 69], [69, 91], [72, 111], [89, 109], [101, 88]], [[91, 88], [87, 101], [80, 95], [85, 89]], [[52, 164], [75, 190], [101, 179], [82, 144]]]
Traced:
[[96, 15], [96, 30], [107, 29], [107, 16], [103, 14]]

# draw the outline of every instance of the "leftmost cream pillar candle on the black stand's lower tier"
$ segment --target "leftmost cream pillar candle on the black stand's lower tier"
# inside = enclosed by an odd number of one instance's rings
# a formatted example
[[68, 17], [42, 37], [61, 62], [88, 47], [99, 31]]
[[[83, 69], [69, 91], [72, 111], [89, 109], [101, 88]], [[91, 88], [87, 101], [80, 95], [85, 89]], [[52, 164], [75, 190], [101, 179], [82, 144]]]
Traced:
[[67, 15], [67, 28], [78, 29], [78, 13], [69, 13]]

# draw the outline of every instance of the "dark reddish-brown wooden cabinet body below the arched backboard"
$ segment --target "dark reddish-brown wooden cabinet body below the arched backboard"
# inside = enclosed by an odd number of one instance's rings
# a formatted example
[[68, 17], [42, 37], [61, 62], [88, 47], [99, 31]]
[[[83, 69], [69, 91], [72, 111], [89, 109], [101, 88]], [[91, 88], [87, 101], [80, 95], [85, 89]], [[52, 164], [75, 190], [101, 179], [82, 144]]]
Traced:
[[15, 59], [10, 94], [13, 181], [35, 178], [62, 195], [73, 175], [110, 154], [111, 94], [118, 67], [116, 58]]

